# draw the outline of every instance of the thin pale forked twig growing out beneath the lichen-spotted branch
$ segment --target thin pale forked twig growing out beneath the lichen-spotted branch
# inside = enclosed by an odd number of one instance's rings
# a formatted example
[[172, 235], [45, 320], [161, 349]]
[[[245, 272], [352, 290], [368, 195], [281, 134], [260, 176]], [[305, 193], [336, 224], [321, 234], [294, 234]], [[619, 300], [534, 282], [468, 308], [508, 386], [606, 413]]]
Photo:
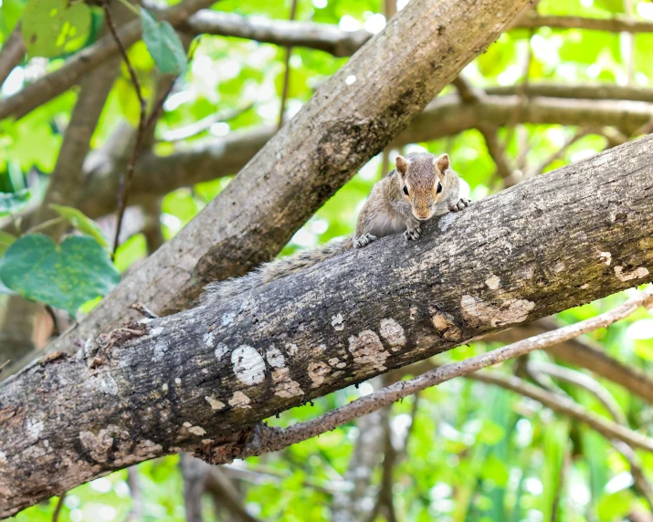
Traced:
[[[376, 412], [384, 406], [392, 404], [417, 391], [426, 390], [431, 386], [450, 381], [456, 377], [470, 375], [482, 368], [494, 366], [505, 360], [521, 357], [534, 350], [542, 350], [564, 340], [574, 339], [595, 329], [606, 328], [617, 320], [626, 318], [640, 306], [653, 308], [653, 289], [638, 292], [634, 298], [629, 299], [626, 303], [595, 318], [585, 319], [574, 325], [545, 332], [532, 338], [523, 339], [504, 346], [498, 350], [491, 350], [467, 360], [427, 371], [408, 381], [396, 382], [379, 391], [374, 391], [369, 395], [356, 399], [345, 406], [332, 410], [332, 412], [327, 412], [311, 421], [296, 423], [285, 429], [271, 428], [265, 424], [259, 424], [257, 427], [257, 436], [253, 439], [253, 442], [246, 444], [240, 456], [241, 458], [245, 458], [247, 456], [279, 451], [290, 444], [296, 444], [321, 433], [330, 432], [338, 426], [342, 426], [344, 423], [353, 421], [368, 413]], [[481, 380], [479, 375], [474, 374], [471, 378]], [[488, 375], [488, 372], [483, 373], [482, 380], [490, 380], [491, 375]], [[575, 402], [553, 395], [547, 391], [542, 391], [536, 386], [523, 383], [523, 381], [516, 377], [505, 378], [500, 376], [500, 379], [503, 383], [507, 382], [506, 385], [513, 386], [515, 389], [520, 388], [522, 394], [532, 397], [532, 399], [540, 401], [547, 406], [553, 403], [556, 407], [562, 408], [565, 413], [590, 424], [596, 431], [606, 435], [608, 438], [620, 439], [627, 442], [627, 444], [653, 452], [653, 440], [641, 433], [633, 432], [624, 426], [606, 421], [606, 419], [595, 413], [585, 412], [585, 409]]]

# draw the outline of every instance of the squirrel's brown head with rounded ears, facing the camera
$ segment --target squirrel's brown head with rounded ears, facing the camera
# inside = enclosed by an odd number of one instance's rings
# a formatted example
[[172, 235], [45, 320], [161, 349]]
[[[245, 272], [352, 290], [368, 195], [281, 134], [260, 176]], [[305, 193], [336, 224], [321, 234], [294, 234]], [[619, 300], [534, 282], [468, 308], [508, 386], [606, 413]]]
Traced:
[[397, 156], [397, 182], [413, 215], [426, 221], [436, 212], [436, 204], [445, 196], [445, 179], [450, 174], [447, 154], [434, 156], [427, 153]]

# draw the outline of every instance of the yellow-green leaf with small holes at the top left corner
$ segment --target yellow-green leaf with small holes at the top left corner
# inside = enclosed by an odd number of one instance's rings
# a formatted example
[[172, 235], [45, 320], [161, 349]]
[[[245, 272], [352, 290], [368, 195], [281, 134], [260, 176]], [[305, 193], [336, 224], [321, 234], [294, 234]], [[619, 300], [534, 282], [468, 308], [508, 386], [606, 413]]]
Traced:
[[30, 0], [23, 11], [23, 38], [32, 57], [58, 57], [83, 46], [90, 35], [90, 7], [68, 0]]

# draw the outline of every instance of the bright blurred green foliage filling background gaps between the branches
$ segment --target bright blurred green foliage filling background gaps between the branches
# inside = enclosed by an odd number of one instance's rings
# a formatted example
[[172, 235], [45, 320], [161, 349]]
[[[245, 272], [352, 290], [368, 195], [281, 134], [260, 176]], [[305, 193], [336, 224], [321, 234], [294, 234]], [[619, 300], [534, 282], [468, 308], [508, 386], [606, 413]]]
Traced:
[[[345, 28], [369, 28], [379, 19], [382, 4], [379, 0], [300, 0], [298, 18]], [[650, 3], [642, 0], [634, 4], [640, 16], [648, 14], [653, 17]], [[23, 5], [21, 0], [3, 0], [0, 13], [4, 17], [0, 17], [0, 30], [5, 37], [20, 16]], [[288, 7], [282, 2], [265, 0], [247, 3], [222, 0], [216, 5], [223, 11], [272, 18], [286, 18]], [[17, 9], [17, 16], [12, 9]], [[623, 14], [624, 7], [621, 0], [542, 0], [539, 11], [545, 15], [610, 17]], [[81, 43], [80, 37], [78, 40], [61, 40], [63, 44], [59, 47], [63, 48], [58, 55], [53, 55], [56, 57], [52, 57], [48, 67], [58, 67], [65, 53], [79, 48], [74, 45], [83, 47], [93, 41], [92, 27], [96, 26], [96, 16], [99, 15], [91, 8], [91, 29], [87, 40]], [[144, 12], [142, 16], [146, 17]], [[143, 19], [144, 26], [150, 22]], [[139, 43], [129, 51], [145, 89], [150, 92], [153, 90], [154, 68], [158, 66], [167, 70], [162, 65], [162, 55], [158, 53], [165, 52], [162, 49], [168, 44], [163, 40], [169, 33], [162, 26], [157, 27], [152, 34], [161, 34], [155, 40], [160, 42], [160, 46], [148, 42], [150, 33], [146, 32], [145, 43]], [[70, 35], [69, 31], [67, 29], [65, 34]], [[530, 43], [532, 63], [529, 78], [533, 82], [626, 82], [627, 63], [622, 53], [623, 38], [619, 35], [540, 29], [529, 37], [529, 31], [525, 30], [513, 30], [503, 35], [485, 54], [474, 60], [466, 69], [466, 75], [477, 85], [518, 83], [523, 79], [522, 57]], [[649, 59], [652, 45], [653, 36], [637, 35], [636, 80], [641, 85], [653, 81], [653, 62]], [[173, 55], [175, 53], [166, 55], [170, 57], [170, 63], [177, 59]], [[157, 135], [161, 137], [166, 131], [250, 102], [254, 103], [252, 110], [233, 120], [218, 122], [189, 141], [216, 139], [230, 131], [276, 123], [284, 55], [284, 49], [270, 45], [236, 38], [203, 38], [180, 88], [166, 104]], [[290, 60], [290, 112], [298, 110], [323, 78], [332, 75], [344, 61], [344, 58], [334, 58], [320, 51], [294, 49]], [[26, 188], [27, 173], [37, 171], [46, 178], [52, 171], [61, 141], [62, 121], [67, 120], [74, 101], [74, 94], [67, 93], [22, 120], [0, 124], [3, 126], [0, 135], [0, 189], [14, 194], [0, 199], [0, 210], [11, 207], [12, 212], [16, 212], [13, 205], [25, 203], [27, 196], [21, 191]], [[134, 122], [137, 114], [137, 99], [128, 76], [123, 74], [111, 91], [93, 136], [93, 146], [100, 147], [121, 120]], [[557, 151], [572, 132], [554, 125], [524, 125], [512, 134], [507, 151], [512, 158], [517, 158], [524, 143], [528, 143], [528, 161], [536, 165]], [[501, 138], [509, 135], [511, 132], [505, 131]], [[31, 145], [35, 140], [40, 145], [37, 152]], [[604, 147], [602, 138], [587, 136], [576, 141], [548, 168], [593, 155]], [[495, 166], [478, 131], [413, 144], [406, 149], [405, 152], [448, 151], [455, 168], [469, 183], [475, 200], [497, 190], [498, 184], [493, 176]], [[173, 150], [171, 143], [159, 141], [156, 145], [156, 151], [161, 154]], [[391, 151], [391, 158], [397, 152]], [[284, 254], [351, 232], [372, 184], [385, 173], [381, 172], [381, 165], [380, 157], [366, 165], [293, 237]], [[228, 179], [200, 183], [165, 196], [160, 215], [164, 236], [174, 236], [205, 204], [224, 190], [227, 183]], [[74, 226], [89, 234], [79, 222]], [[0, 235], [0, 248], [14, 240]], [[94, 240], [97, 241], [98, 237], [95, 236]], [[48, 248], [52, 254], [51, 245]], [[59, 249], [61, 256], [64, 248], [60, 245]], [[68, 251], [67, 248], [66, 253]], [[117, 252], [115, 265], [122, 271], [146, 255], [144, 236], [135, 234]], [[44, 287], [48, 285], [49, 282], [43, 284]], [[607, 298], [565, 312], [560, 318], [569, 323], [589, 318], [611, 308], [621, 299], [623, 296]], [[650, 314], [640, 311], [627, 321], [607, 331], [596, 332], [592, 337], [612, 357], [650, 372], [653, 364], [651, 321]], [[482, 343], [474, 343], [438, 356], [438, 362], [467, 358], [487, 349]], [[535, 358], [545, 359], [546, 356], [538, 354]], [[507, 370], [511, 371], [511, 368]], [[601, 380], [601, 384], [615, 396], [631, 425], [642, 433], [650, 433], [651, 418], [647, 406], [610, 381]], [[606, 414], [602, 404], [589, 393], [569, 385], [560, 385], [560, 388], [588, 410]], [[369, 389], [365, 386], [360, 390], [338, 391], [315, 402], [314, 406], [294, 409], [284, 413], [279, 421], [271, 422], [288, 425], [305, 420], [350, 402], [367, 391]], [[405, 520], [549, 520], [556, 492], [560, 492], [558, 520], [621, 520], [633, 509], [645, 506], [632, 487], [626, 460], [609, 442], [585, 426], [553, 414], [539, 403], [487, 384], [459, 380], [424, 392], [416, 408], [414, 405], [413, 399], [395, 404], [389, 421], [400, 445], [405, 433], [410, 433], [405, 456], [395, 467], [393, 489], [395, 507]], [[323, 485], [342, 481], [358, 436], [358, 428], [352, 423], [318, 439], [292, 446], [280, 454], [249, 460], [243, 466], [254, 472], [265, 466], [283, 478], [276, 481], [266, 479], [255, 484], [238, 483], [248, 509], [261, 519], [328, 520], [332, 495], [328, 488], [306, 485], [307, 479]], [[637, 454], [643, 461], [648, 479], [653, 480], [651, 456]], [[568, 465], [561, 473], [565, 459]], [[184, 520], [183, 485], [177, 458], [144, 463], [138, 469], [145, 498], [143, 518]], [[378, 468], [373, 483], [380, 484]], [[55, 502], [53, 500], [50, 506], [32, 507], [16, 519], [50, 520]], [[73, 522], [100, 518], [121, 520], [130, 506], [126, 472], [121, 471], [80, 486], [68, 494], [59, 519]], [[210, 506], [207, 506], [205, 520], [215, 519]]]

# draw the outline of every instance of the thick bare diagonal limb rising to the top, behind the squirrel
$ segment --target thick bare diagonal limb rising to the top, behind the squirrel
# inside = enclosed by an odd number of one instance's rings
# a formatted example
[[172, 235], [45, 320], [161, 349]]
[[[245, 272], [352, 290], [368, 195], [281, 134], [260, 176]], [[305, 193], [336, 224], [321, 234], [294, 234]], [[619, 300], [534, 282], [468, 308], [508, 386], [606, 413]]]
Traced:
[[[411, 2], [201, 214], [52, 344], [96, 336], [141, 300], [163, 315], [276, 256], [306, 220], [500, 34], [527, 0]], [[473, 30], [472, 30], [473, 29]], [[138, 177], [138, 175], [136, 176]]]

